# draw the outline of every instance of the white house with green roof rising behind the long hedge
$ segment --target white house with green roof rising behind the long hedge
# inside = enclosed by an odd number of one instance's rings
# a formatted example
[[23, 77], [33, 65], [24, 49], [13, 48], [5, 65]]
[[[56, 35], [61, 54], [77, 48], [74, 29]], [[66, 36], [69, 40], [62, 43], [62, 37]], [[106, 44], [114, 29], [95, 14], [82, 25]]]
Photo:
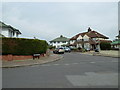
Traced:
[[0, 21], [0, 37], [18, 37], [21, 32], [18, 29]]

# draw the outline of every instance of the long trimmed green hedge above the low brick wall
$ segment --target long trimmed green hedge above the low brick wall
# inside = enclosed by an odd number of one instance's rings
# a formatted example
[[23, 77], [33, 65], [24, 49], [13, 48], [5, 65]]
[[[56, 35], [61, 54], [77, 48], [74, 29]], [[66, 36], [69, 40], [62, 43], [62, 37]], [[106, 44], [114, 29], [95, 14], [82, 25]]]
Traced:
[[45, 53], [47, 42], [39, 39], [2, 38], [2, 54], [32, 55]]

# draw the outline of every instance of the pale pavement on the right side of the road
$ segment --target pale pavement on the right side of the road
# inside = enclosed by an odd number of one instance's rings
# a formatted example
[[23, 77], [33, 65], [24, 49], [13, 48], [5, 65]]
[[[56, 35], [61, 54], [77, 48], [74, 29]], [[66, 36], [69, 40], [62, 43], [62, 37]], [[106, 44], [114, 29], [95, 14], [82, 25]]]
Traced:
[[90, 52], [84, 52], [82, 54], [119, 58], [120, 57], [119, 53], [120, 51], [115, 51], [115, 50], [101, 50], [100, 52], [90, 51]]

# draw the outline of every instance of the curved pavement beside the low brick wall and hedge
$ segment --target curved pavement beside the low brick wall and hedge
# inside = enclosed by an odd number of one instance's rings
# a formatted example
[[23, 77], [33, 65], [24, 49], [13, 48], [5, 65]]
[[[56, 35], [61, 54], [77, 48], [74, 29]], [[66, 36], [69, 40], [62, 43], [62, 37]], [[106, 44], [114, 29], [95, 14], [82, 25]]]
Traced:
[[27, 59], [27, 60], [13, 60], [13, 61], [2, 61], [2, 68], [12, 68], [20, 66], [31, 66], [38, 64], [45, 64], [53, 61], [57, 61], [63, 58], [61, 55], [51, 54], [50, 56], [41, 57], [40, 59]]

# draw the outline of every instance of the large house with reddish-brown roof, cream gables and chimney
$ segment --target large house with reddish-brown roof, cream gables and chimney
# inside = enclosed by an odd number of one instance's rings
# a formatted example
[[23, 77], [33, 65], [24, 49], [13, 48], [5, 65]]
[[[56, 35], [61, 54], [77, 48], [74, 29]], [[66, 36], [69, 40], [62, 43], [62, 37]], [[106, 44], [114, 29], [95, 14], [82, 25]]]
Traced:
[[87, 32], [79, 33], [70, 38], [71, 48], [85, 48], [89, 50], [100, 49], [101, 42], [111, 42], [108, 37], [92, 30], [90, 27]]

